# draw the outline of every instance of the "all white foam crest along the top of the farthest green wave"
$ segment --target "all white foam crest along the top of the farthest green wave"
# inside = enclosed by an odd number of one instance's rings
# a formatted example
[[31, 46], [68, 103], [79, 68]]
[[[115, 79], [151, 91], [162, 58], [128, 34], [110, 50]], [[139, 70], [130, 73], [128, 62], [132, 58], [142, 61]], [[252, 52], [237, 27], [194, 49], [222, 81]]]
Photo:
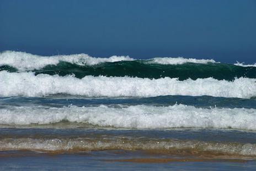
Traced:
[[[0, 53], [0, 66], [9, 65], [10, 67], [17, 68], [19, 71], [41, 69], [46, 65], [57, 65], [60, 62], [68, 62], [77, 65], [96, 65], [104, 62], [118, 62], [118, 61], [135, 60], [128, 56], [112, 56], [110, 58], [93, 58], [87, 54], [72, 54], [72, 55], [58, 55], [43, 57], [25, 52], [4, 51]], [[178, 58], [153, 58], [148, 60], [141, 60], [145, 63], [156, 64], [184, 64], [184, 63], [215, 63], [213, 59], [186, 59]]]

